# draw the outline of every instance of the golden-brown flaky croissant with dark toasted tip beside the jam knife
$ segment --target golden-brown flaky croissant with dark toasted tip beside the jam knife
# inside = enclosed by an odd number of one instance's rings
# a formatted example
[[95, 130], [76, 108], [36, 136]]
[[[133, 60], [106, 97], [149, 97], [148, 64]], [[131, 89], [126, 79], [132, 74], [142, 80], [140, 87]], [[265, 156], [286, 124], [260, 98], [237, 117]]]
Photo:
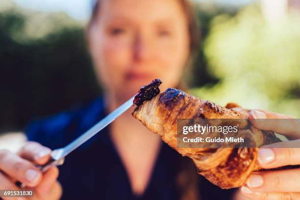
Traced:
[[[257, 148], [177, 148], [177, 119], [248, 119], [250, 110], [235, 103], [226, 107], [211, 101], [200, 100], [173, 88], [145, 101], [132, 113], [150, 131], [183, 156], [190, 157], [198, 173], [223, 189], [243, 185], [250, 173], [259, 170], [256, 164]], [[278, 142], [274, 132], [252, 125], [244, 125], [253, 135], [255, 146]], [[250, 127], [250, 128], [249, 128]], [[240, 128], [242, 128], [240, 126]]]

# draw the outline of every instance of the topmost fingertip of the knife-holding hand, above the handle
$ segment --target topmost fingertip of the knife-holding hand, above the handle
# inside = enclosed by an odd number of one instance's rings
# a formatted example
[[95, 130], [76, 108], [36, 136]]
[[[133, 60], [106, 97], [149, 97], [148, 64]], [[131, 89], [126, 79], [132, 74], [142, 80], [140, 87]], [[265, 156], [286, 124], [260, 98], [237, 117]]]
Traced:
[[51, 150], [37, 142], [27, 142], [27, 144], [18, 152], [18, 154], [39, 165], [45, 164], [50, 159]]

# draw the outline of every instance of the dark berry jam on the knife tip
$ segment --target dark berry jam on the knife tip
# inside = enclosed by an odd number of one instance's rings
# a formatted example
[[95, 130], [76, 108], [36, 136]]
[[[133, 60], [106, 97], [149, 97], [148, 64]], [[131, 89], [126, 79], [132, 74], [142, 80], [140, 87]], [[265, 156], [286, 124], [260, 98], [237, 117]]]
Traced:
[[158, 86], [161, 84], [161, 79], [154, 79], [148, 85], [141, 87], [139, 93], [134, 97], [135, 105], [142, 105], [145, 100], [151, 100], [160, 93]]

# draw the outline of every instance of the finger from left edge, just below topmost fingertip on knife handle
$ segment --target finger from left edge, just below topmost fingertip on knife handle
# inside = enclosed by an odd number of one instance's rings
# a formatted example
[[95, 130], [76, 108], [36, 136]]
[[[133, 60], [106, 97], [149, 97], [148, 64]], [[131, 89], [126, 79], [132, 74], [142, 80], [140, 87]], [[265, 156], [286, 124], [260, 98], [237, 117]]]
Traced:
[[43, 176], [31, 162], [7, 150], [0, 150], [0, 170], [29, 187], [38, 185]]

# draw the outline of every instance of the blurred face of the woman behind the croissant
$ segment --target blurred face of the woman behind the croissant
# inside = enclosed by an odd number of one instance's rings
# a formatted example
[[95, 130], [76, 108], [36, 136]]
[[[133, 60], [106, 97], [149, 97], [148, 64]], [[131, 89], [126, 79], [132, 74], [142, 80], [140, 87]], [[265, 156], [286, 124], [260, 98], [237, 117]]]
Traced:
[[89, 43], [106, 92], [125, 100], [154, 78], [162, 90], [180, 82], [188, 23], [179, 0], [101, 0]]

